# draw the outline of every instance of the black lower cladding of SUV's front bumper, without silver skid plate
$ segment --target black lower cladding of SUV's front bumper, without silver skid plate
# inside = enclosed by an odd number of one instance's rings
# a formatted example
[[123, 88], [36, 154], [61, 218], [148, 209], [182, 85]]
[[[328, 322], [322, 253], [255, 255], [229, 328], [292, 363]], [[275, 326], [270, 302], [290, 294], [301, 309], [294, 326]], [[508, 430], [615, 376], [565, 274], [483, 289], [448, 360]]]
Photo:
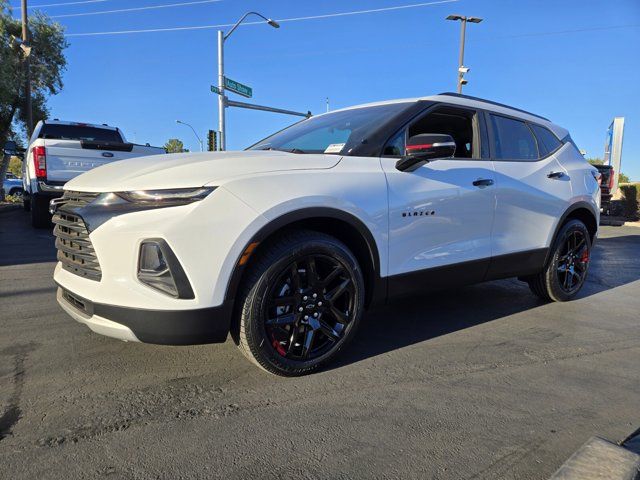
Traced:
[[[62, 289], [61, 298], [71, 307], [92, 312], [131, 329], [144, 343], [200, 345], [222, 343], [231, 326], [233, 302], [196, 310], [148, 310], [91, 302]], [[70, 300], [73, 299], [73, 300]]]

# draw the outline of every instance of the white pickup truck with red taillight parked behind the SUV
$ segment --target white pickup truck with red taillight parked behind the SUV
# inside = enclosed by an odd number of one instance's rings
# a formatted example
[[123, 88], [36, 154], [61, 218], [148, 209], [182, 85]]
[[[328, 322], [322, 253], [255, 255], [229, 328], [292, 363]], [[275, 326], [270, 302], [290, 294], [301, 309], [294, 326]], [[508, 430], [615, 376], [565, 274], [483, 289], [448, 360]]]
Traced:
[[164, 148], [128, 143], [117, 127], [40, 121], [22, 164], [24, 209], [31, 211], [34, 227], [48, 227], [49, 201], [61, 197], [72, 178], [107, 163], [163, 153]]

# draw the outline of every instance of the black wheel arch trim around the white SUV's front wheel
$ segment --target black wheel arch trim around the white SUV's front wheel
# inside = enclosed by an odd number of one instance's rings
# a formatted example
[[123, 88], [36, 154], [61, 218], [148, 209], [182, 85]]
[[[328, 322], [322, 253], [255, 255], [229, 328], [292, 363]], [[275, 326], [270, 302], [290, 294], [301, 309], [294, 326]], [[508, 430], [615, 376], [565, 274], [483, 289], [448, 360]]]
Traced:
[[[270, 238], [291, 229], [306, 229], [331, 235], [343, 242], [353, 252], [365, 279], [365, 306], [379, 303], [386, 298], [386, 285], [380, 276], [380, 254], [369, 228], [356, 216], [344, 210], [327, 207], [309, 207], [288, 212], [262, 227], [246, 243], [236, 259], [227, 284], [225, 300], [233, 301], [247, 267], [260, 253], [261, 246]], [[241, 259], [251, 244], [257, 243], [248, 261]]]

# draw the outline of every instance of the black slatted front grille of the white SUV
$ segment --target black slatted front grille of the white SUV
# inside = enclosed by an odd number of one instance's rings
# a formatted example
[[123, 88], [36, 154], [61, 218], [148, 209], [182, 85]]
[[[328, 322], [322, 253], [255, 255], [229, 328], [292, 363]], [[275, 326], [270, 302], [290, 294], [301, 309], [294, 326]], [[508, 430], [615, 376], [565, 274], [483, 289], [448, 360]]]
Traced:
[[67, 191], [62, 197], [65, 202], [53, 215], [53, 234], [56, 236], [57, 257], [62, 263], [62, 268], [95, 281], [102, 278], [98, 257], [89, 239], [84, 220], [70, 209], [83, 207], [98, 195]]

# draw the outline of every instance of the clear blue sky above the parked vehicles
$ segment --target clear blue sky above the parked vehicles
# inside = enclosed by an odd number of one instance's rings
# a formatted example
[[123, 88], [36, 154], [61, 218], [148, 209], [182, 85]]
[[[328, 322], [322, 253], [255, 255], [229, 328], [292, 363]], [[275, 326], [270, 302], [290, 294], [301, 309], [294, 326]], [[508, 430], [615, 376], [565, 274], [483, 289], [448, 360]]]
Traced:
[[[80, 0], [32, 0], [30, 5]], [[50, 16], [181, 3], [101, 0], [47, 7]], [[191, 0], [194, 1], [194, 0]], [[17, 3], [14, 2], [14, 3]], [[233, 23], [257, 10], [274, 19], [419, 3], [418, 0], [222, 0], [175, 8], [64, 17], [66, 33]], [[19, 15], [16, 10], [15, 15]], [[601, 157], [614, 116], [626, 117], [622, 170], [640, 180], [640, 1], [460, 0], [353, 16], [238, 29], [226, 45], [226, 73], [251, 85], [255, 103], [325, 110], [455, 89], [459, 13], [483, 17], [467, 29], [464, 93], [549, 117], [589, 157]], [[109, 123], [129, 140], [192, 150], [217, 125], [215, 29], [69, 37], [64, 90], [52, 117]], [[234, 96], [235, 97], [235, 96]], [[240, 97], [236, 97], [241, 100]], [[295, 117], [229, 109], [228, 148], [240, 149]]]

